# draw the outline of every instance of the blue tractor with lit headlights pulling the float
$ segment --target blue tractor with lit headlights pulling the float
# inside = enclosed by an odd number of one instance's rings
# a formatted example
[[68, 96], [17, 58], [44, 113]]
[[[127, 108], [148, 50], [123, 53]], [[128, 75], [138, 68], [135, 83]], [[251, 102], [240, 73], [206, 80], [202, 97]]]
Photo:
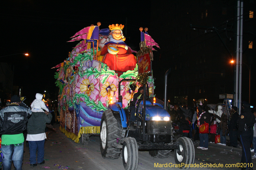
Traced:
[[[170, 71], [165, 73], [165, 84]], [[167, 76], [166, 76], [167, 75]], [[123, 79], [122, 81], [135, 81]], [[166, 87], [167, 85], [165, 85]], [[148, 90], [144, 85], [144, 92]], [[195, 148], [187, 137], [180, 137], [174, 141], [170, 114], [162, 104], [146, 100], [144, 93], [137, 112], [137, 124], [129, 126], [129, 108], [122, 107], [122, 96], [118, 92], [118, 102], [108, 105], [104, 111], [100, 124], [100, 151], [105, 159], [118, 159], [121, 149], [125, 170], [136, 170], [139, 162], [139, 150], [148, 150], [156, 158], [167, 158], [174, 150], [175, 163], [180, 169], [189, 169], [186, 164], [194, 164]], [[164, 105], [167, 90], [165, 88]], [[146, 101], [146, 102], [143, 102]]]

